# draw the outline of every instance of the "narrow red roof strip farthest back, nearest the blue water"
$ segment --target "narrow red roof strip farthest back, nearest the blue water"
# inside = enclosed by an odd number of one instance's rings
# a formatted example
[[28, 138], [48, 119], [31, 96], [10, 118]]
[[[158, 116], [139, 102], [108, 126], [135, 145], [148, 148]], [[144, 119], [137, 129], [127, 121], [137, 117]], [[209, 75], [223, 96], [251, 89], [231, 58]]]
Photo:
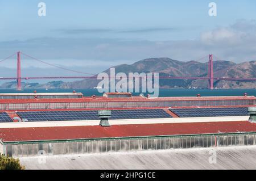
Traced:
[[68, 99], [0, 99], [0, 103], [61, 103], [61, 102], [133, 102], [133, 101], [171, 101], [171, 100], [256, 100], [255, 96], [205, 96], [205, 97], [159, 97], [143, 98], [142, 96], [132, 96], [130, 98], [106, 98], [103, 96], [68, 98]]

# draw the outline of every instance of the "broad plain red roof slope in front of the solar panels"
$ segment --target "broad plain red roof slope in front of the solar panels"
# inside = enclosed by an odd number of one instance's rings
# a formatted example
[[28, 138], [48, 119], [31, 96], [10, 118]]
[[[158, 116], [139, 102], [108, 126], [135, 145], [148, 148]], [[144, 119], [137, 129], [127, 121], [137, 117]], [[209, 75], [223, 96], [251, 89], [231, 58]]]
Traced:
[[81, 126], [0, 128], [0, 139], [3, 142], [11, 142], [239, 132], [256, 132], [256, 124], [250, 123], [249, 121], [230, 121], [208, 123], [112, 125], [111, 127]]

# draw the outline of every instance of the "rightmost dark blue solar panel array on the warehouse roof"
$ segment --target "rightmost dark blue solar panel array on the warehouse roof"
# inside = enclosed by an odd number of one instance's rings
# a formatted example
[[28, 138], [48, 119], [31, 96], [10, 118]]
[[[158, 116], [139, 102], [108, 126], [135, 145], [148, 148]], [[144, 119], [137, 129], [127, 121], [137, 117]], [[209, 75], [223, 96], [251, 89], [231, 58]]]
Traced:
[[247, 107], [229, 108], [171, 108], [179, 117], [217, 117], [217, 116], [247, 116]]

